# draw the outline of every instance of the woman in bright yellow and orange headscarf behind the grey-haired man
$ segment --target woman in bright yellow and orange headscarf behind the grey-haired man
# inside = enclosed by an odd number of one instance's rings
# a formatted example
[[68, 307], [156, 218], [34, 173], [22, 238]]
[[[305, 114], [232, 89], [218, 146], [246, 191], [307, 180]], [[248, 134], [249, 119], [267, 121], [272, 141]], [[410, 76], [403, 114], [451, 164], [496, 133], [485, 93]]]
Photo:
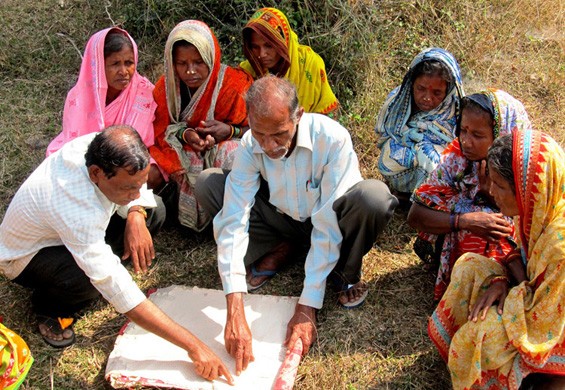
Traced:
[[243, 28], [243, 54], [247, 61], [240, 67], [254, 79], [271, 73], [291, 81], [306, 112], [328, 114], [337, 109], [324, 60], [310, 46], [298, 43], [278, 9], [262, 8], [249, 19]]

